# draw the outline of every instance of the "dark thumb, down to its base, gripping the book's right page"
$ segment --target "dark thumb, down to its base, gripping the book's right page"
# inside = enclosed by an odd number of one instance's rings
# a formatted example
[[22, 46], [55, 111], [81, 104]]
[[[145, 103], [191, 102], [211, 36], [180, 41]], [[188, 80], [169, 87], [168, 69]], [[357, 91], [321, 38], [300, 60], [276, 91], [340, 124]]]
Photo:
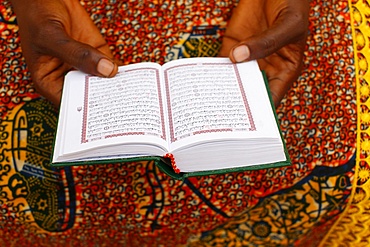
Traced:
[[[267, 24], [271, 26], [260, 34], [245, 38], [231, 48], [230, 59], [233, 62], [242, 62], [267, 57], [288, 44], [305, 40], [308, 30], [309, 3], [303, 0], [289, 4], [289, 7], [282, 7], [279, 10], [277, 19], [273, 23]], [[272, 14], [266, 13], [266, 15]], [[234, 37], [231, 35], [228, 38]]]

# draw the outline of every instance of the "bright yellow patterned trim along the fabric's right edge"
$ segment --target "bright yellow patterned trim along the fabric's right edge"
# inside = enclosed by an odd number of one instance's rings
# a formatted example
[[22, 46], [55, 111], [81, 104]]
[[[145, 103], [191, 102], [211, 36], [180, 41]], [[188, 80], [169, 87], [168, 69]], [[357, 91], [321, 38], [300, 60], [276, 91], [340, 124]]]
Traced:
[[320, 246], [370, 246], [370, 3], [350, 1], [356, 65], [357, 155], [350, 201]]

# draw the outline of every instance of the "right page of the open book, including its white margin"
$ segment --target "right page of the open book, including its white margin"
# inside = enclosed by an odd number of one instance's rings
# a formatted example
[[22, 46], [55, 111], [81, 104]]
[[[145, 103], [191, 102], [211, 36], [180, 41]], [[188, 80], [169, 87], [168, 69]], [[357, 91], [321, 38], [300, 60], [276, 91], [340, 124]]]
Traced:
[[258, 65], [240, 65], [227, 58], [194, 58], [163, 66], [172, 148], [223, 138], [278, 137]]

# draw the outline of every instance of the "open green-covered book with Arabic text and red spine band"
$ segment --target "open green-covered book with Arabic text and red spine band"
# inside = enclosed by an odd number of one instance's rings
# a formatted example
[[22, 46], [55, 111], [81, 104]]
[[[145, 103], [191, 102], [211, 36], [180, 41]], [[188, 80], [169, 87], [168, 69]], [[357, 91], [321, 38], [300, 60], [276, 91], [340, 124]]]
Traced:
[[256, 61], [228, 58], [72, 71], [52, 165], [155, 159], [176, 178], [289, 165], [267, 88]]

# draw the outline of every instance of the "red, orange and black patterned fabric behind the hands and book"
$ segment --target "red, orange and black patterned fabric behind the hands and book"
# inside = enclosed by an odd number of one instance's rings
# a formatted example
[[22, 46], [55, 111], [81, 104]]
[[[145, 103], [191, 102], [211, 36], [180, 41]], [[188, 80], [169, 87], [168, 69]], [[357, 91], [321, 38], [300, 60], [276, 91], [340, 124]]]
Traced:
[[[129, 64], [216, 56], [237, 2], [81, 4]], [[153, 162], [49, 166], [57, 111], [35, 92], [2, 1], [1, 246], [366, 246], [368, 6], [311, 1], [302, 76], [278, 109], [291, 167], [177, 181]]]

